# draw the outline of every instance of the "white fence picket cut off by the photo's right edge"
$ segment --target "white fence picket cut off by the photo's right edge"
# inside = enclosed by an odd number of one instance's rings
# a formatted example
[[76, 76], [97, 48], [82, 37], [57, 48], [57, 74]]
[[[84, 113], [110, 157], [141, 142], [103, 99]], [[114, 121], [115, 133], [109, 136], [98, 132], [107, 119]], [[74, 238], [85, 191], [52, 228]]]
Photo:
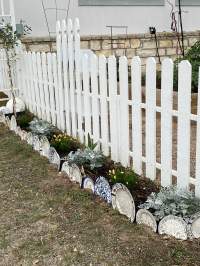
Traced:
[[196, 186], [195, 194], [200, 198], [200, 68], [198, 86], [198, 107], [197, 107], [197, 139], [196, 139]]

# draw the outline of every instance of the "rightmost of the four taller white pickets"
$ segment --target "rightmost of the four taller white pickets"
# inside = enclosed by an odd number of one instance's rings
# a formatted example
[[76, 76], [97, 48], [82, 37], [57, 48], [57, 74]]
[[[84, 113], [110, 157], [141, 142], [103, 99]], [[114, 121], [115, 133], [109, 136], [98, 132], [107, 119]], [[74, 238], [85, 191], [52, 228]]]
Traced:
[[78, 137], [81, 142], [84, 141], [83, 134], [83, 113], [82, 113], [82, 83], [81, 83], [81, 54], [80, 54], [80, 25], [76, 18], [74, 23], [75, 38], [75, 75], [76, 75], [76, 92], [77, 92], [77, 118], [78, 118]]

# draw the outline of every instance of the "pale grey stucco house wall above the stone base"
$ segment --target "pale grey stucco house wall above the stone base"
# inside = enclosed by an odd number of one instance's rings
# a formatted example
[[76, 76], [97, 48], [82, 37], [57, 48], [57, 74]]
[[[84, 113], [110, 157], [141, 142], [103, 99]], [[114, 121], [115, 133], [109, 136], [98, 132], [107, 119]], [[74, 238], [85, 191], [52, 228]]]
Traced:
[[[175, 0], [170, 0], [175, 3]], [[57, 0], [60, 8], [66, 8], [68, 0]], [[16, 18], [24, 19], [32, 26], [34, 36], [47, 36], [45, 18], [42, 12], [40, 0], [14, 0]], [[54, 6], [54, 0], [44, 0], [46, 6]], [[183, 24], [185, 31], [200, 29], [200, 6], [183, 7]], [[165, 6], [78, 6], [78, 0], [71, 1], [69, 17], [79, 17], [82, 35], [109, 34], [106, 25], [127, 25], [128, 33], [148, 33], [149, 26], [155, 26], [158, 32], [170, 31], [171, 8], [165, 0]], [[55, 31], [55, 12], [49, 11], [48, 18], [51, 31]], [[66, 17], [66, 13], [60, 12], [60, 19]], [[121, 34], [122, 31], [115, 31]]]

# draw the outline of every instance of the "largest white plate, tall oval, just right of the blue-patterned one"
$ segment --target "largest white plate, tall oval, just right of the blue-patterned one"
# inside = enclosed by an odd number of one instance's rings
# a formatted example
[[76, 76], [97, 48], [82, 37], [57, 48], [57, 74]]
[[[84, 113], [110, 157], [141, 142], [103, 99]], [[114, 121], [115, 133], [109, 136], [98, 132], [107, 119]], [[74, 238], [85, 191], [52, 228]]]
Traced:
[[112, 206], [119, 213], [127, 216], [131, 222], [135, 220], [135, 202], [126, 186], [115, 184], [112, 188]]

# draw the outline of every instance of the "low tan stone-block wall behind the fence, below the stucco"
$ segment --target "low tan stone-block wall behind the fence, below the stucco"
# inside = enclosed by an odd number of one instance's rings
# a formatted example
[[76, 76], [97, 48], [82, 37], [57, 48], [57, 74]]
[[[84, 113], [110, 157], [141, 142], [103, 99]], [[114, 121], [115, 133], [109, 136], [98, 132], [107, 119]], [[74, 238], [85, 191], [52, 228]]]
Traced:
[[[158, 33], [158, 47], [161, 60], [164, 57], [171, 57], [173, 60], [177, 57], [177, 36], [174, 33]], [[188, 49], [197, 40], [200, 40], [200, 31], [187, 32], [184, 34], [184, 45]], [[26, 38], [23, 44], [27, 51], [56, 51], [55, 39], [51, 42], [49, 38]], [[113, 37], [113, 49], [111, 49], [111, 39], [109, 36], [83, 36], [81, 38], [81, 48], [91, 49], [97, 55], [104, 54], [122, 56], [126, 55], [129, 59], [138, 55], [145, 63], [147, 57], [156, 57], [155, 39], [150, 34], [119, 35]], [[180, 53], [180, 51], [179, 51]], [[158, 62], [158, 58], [156, 57]]]

